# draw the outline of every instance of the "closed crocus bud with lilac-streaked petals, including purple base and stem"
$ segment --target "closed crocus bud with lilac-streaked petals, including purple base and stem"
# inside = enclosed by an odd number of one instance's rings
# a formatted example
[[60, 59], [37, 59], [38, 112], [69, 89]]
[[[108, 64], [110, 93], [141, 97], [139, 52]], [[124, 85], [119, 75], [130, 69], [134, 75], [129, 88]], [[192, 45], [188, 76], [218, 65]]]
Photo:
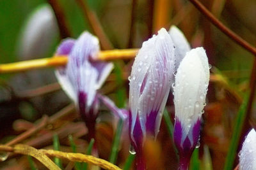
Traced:
[[137, 169], [145, 169], [142, 156], [146, 136], [156, 138], [174, 71], [173, 41], [165, 29], [145, 41], [132, 66], [129, 90], [129, 135]]

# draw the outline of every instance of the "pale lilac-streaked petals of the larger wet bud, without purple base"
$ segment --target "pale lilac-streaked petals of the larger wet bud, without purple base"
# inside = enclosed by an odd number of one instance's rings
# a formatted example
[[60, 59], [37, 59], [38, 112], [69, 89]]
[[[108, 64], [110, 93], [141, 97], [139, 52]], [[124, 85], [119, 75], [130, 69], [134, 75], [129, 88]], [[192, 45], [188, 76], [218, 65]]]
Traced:
[[157, 36], [145, 41], [132, 66], [130, 76], [129, 108], [132, 113], [132, 127], [137, 114], [145, 133], [147, 115], [158, 111], [155, 134], [159, 130], [163, 107], [170, 91], [174, 71], [174, 48], [170, 35], [161, 29]]

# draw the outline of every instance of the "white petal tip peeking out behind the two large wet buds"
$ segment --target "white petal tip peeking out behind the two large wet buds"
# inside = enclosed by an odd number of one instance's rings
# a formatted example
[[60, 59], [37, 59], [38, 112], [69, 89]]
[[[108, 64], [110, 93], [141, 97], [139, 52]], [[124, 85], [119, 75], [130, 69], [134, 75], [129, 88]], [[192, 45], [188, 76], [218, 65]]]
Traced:
[[188, 40], [184, 36], [184, 34], [177, 28], [175, 25], [170, 27], [169, 34], [172, 38], [175, 49], [175, 71], [177, 71], [180, 62], [185, 57], [186, 53], [191, 50]]

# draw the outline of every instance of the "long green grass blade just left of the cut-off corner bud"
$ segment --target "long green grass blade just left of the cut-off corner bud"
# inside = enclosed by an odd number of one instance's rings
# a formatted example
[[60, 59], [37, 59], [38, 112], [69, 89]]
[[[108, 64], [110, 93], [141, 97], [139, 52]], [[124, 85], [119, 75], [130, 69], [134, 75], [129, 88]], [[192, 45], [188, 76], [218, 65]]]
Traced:
[[236, 158], [237, 146], [239, 143], [240, 134], [244, 124], [244, 118], [246, 117], [247, 104], [248, 104], [248, 94], [245, 95], [243, 103], [241, 104], [239, 111], [237, 113], [236, 122], [234, 125], [234, 130], [232, 132], [233, 135], [230, 141], [230, 146], [228, 148], [224, 170], [233, 169], [234, 160]]

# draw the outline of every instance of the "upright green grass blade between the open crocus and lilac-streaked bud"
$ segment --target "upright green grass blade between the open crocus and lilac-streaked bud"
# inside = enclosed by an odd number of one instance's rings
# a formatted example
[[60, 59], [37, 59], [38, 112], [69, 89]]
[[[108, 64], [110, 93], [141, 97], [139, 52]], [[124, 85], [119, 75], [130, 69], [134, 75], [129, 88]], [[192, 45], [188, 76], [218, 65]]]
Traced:
[[122, 118], [120, 118], [118, 121], [118, 125], [116, 127], [115, 138], [113, 141], [113, 146], [112, 146], [112, 150], [109, 157], [109, 162], [111, 162], [112, 164], [115, 164], [116, 162], [123, 124], [124, 124], [124, 121], [122, 120]]

